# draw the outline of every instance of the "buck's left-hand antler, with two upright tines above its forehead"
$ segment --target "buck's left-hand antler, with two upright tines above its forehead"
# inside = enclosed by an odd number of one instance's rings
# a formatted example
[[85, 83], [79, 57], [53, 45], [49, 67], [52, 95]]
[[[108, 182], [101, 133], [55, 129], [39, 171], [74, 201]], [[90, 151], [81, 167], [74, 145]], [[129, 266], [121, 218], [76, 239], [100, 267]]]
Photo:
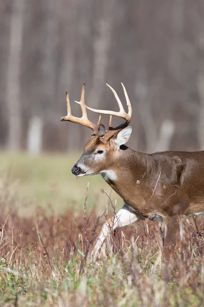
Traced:
[[85, 127], [88, 127], [90, 129], [92, 129], [94, 131], [94, 133], [97, 134], [97, 130], [98, 130], [98, 127], [100, 125], [100, 117], [99, 117], [98, 124], [96, 126], [92, 122], [90, 122], [90, 120], [87, 117], [84, 95], [85, 95], [85, 82], [83, 83], [83, 86], [82, 86], [82, 95], [81, 95], [80, 101], [75, 101], [78, 104], [80, 104], [81, 109], [82, 109], [82, 117], [79, 118], [79, 117], [75, 117], [75, 116], [73, 116], [71, 114], [71, 107], [70, 107], [70, 102], [69, 102], [69, 94], [66, 91], [67, 116], [62, 117], [61, 121], [68, 120], [68, 121], [70, 121], [72, 123], [77, 123], [77, 124], [83, 125]]

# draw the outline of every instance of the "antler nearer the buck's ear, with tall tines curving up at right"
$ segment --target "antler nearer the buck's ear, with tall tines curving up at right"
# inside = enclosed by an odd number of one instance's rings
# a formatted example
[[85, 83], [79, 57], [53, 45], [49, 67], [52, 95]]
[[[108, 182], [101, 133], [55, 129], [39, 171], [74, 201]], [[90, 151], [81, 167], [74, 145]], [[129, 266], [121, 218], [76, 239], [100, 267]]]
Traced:
[[[130, 102], [130, 99], [127, 95], [127, 92], [126, 92], [126, 89], [122, 84], [122, 87], [123, 87], [123, 91], [124, 91], [124, 96], [125, 96], [125, 99], [126, 99], [126, 103], [127, 103], [127, 109], [128, 109], [128, 113], [126, 113], [124, 111], [124, 108], [122, 106], [122, 103], [116, 93], [116, 91], [113, 89], [113, 87], [111, 87], [110, 85], [108, 85], [106, 83], [106, 85], [109, 87], [109, 89], [113, 92], [114, 96], [115, 96], [115, 99], [117, 100], [117, 103], [118, 103], [118, 106], [119, 106], [119, 109], [120, 111], [119, 112], [115, 112], [115, 111], [106, 111], [106, 110], [98, 110], [98, 109], [94, 109], [94, 108], [91, 108], [89, 106], [86, 106], [85, 107], [87, 109], [89, 109], [90, 111], [92, 112], [95, 112], [95, 113], [100, 113], [100, 114], [107, 114], [107, 115], [110, 115], [110, 124], [109, 124], [109, 130], [107, 131], [107, 133], [105, 134], [105, 136], [103, 137], [103, 140], [105, 142], [108, 142], [108, 140], [110, 140], [110, 138], [112, 138], [116, 133], [118, 133], [120, 130], [122, 130], [123, 128], [125, 128], [126, 126], [129, 125], [130, 121], [131, 121], [131, 117], [132, 117], [132, 106], [131, 106], [131, 102]], [[112, 116], [116, 116], [116, 117], [121, 117], [123, 119], [125, 119], [125, 122], [123, 124], [120, 124], [119, 126], [113, 128], [112, 127]]]

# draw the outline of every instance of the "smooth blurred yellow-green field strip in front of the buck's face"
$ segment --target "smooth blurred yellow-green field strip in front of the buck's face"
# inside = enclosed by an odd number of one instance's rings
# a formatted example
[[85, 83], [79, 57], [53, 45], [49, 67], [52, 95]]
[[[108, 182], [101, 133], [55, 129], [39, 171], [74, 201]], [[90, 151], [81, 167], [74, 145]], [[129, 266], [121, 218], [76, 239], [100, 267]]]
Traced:
[[[107, 197], [100, 190], [105, 189], [109, 194], [111, 188], [101, 176], [73, 176], [71, 168], [80, 156], [80, 153], [40, 157], [0, 153], [0, 185], [3, 190], [9, 188], [10, 193], [15, 194], [15, 206], [25, 215], [32, 214], [36, 207], [48, 208], [47, 214], [50, 208], [58, 213], [72, 208], [83, 210], [89, 182], [87, 210], [94, 208], [103, 212]], [[119, 200], [114, 191], [111, 194], [114, 201]], [[118, 206], [122, 205], [120, 199]]]

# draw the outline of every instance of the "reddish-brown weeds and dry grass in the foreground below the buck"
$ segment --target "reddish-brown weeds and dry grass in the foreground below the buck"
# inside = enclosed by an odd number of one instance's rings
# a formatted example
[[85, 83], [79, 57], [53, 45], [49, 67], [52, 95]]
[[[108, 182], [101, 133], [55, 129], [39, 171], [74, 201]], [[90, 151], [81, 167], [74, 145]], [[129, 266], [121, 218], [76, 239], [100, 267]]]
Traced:
[[[51, 209], [50, 209], [51, 210]], [[21, 217], [1, 204], [0, 302], [4, 306], [201, 306], [204, 242], [200, 221], [183, 221], [173, 259], [162, 258], [157, 223], [113, 234], [113, 246], [92, 262], [87, 247], [96, 216], [73, 220], [39, 209]], [[194, 223], [196, 222], [196, 224]], [[196, 225], [196, 226], [195, 226]], [[85, 233], [85, 229], [87, 234]], [[87, 240], [86, 240], [87, 237]]]

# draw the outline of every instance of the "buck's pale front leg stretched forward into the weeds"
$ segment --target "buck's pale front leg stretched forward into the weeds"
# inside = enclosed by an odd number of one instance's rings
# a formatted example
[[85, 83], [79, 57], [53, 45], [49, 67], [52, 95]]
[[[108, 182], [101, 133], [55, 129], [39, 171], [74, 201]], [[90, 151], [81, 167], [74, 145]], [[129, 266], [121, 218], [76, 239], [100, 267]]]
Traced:
[[110, 236], [111, 232], [118, 227], [131, 225], [139, 220], [137, 213], [128, 205], [124, 205], [115, 216], [111, 216], [106, 223], [104, 223], [98, 238], [95, 240], [91, 248], [91, 257], [98, 256], [99, 249], [104, 243], [106, 237]]

